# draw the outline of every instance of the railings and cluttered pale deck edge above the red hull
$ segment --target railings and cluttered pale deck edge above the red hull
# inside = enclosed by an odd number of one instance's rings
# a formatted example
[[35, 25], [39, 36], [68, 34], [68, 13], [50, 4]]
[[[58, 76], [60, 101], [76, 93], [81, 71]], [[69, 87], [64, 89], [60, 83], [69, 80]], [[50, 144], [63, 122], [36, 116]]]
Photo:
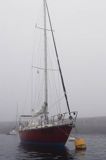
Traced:
[[71, 112], [70, 115], [65, 112], [50, 117], [41, 115], [37, 118], [31, 115], [21, 115], [19, 119], [19, 129], [42, 128], [64, 124], [71, 124], [74, 126], [77, 114], [78, 112], [75, 111]]

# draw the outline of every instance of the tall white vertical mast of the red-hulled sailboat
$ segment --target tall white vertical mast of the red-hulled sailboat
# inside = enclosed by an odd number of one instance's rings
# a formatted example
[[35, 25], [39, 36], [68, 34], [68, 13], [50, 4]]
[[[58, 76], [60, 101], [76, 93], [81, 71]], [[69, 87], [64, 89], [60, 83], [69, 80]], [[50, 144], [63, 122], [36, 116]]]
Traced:
[[47, 31], [46, 31], [46, 0], [43, 0], [43, 5], [44, 5], [44, 68], [45, 68], [45, 73], [44, 73], [44, 78], [45, 78], [45, 97], [44, 97], [44, 105], [46, 107], [46, 113], [48, 110], [48, 85], [47, 85]]

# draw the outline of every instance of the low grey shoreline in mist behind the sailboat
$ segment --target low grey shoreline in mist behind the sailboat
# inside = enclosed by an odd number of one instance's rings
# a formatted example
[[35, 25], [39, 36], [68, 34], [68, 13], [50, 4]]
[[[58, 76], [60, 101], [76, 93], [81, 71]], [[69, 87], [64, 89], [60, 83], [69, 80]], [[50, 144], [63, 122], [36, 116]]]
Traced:
[[[8, 133], [16, 122], [0, 122], [0, 133]], [[106, 117], [78, 118], [72, 134], [106, 134]]]

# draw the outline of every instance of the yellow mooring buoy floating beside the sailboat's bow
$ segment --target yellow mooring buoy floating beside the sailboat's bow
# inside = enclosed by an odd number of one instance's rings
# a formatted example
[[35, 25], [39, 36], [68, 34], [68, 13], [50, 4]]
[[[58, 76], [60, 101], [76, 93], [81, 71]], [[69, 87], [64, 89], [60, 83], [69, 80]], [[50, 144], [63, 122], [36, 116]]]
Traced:
[[86, 149], [86, 142], [83, 138], [76, 138], [74, 143], [75, 143], [76, 150], [85, 150]]

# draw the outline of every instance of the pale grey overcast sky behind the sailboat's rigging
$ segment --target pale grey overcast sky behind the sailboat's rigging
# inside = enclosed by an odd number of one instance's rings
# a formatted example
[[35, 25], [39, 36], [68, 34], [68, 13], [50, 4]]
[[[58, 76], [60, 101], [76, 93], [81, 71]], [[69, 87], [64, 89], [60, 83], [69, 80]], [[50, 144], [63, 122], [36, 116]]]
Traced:
[[[41, 4], [0, 0], [0, 120], [15, 120], [17, 104], [23, 107], [30, 93], [26, 86]], [[48, 0], [48, 5], [70, 108], [79, 117], [105, 116], [106, 1]]]

